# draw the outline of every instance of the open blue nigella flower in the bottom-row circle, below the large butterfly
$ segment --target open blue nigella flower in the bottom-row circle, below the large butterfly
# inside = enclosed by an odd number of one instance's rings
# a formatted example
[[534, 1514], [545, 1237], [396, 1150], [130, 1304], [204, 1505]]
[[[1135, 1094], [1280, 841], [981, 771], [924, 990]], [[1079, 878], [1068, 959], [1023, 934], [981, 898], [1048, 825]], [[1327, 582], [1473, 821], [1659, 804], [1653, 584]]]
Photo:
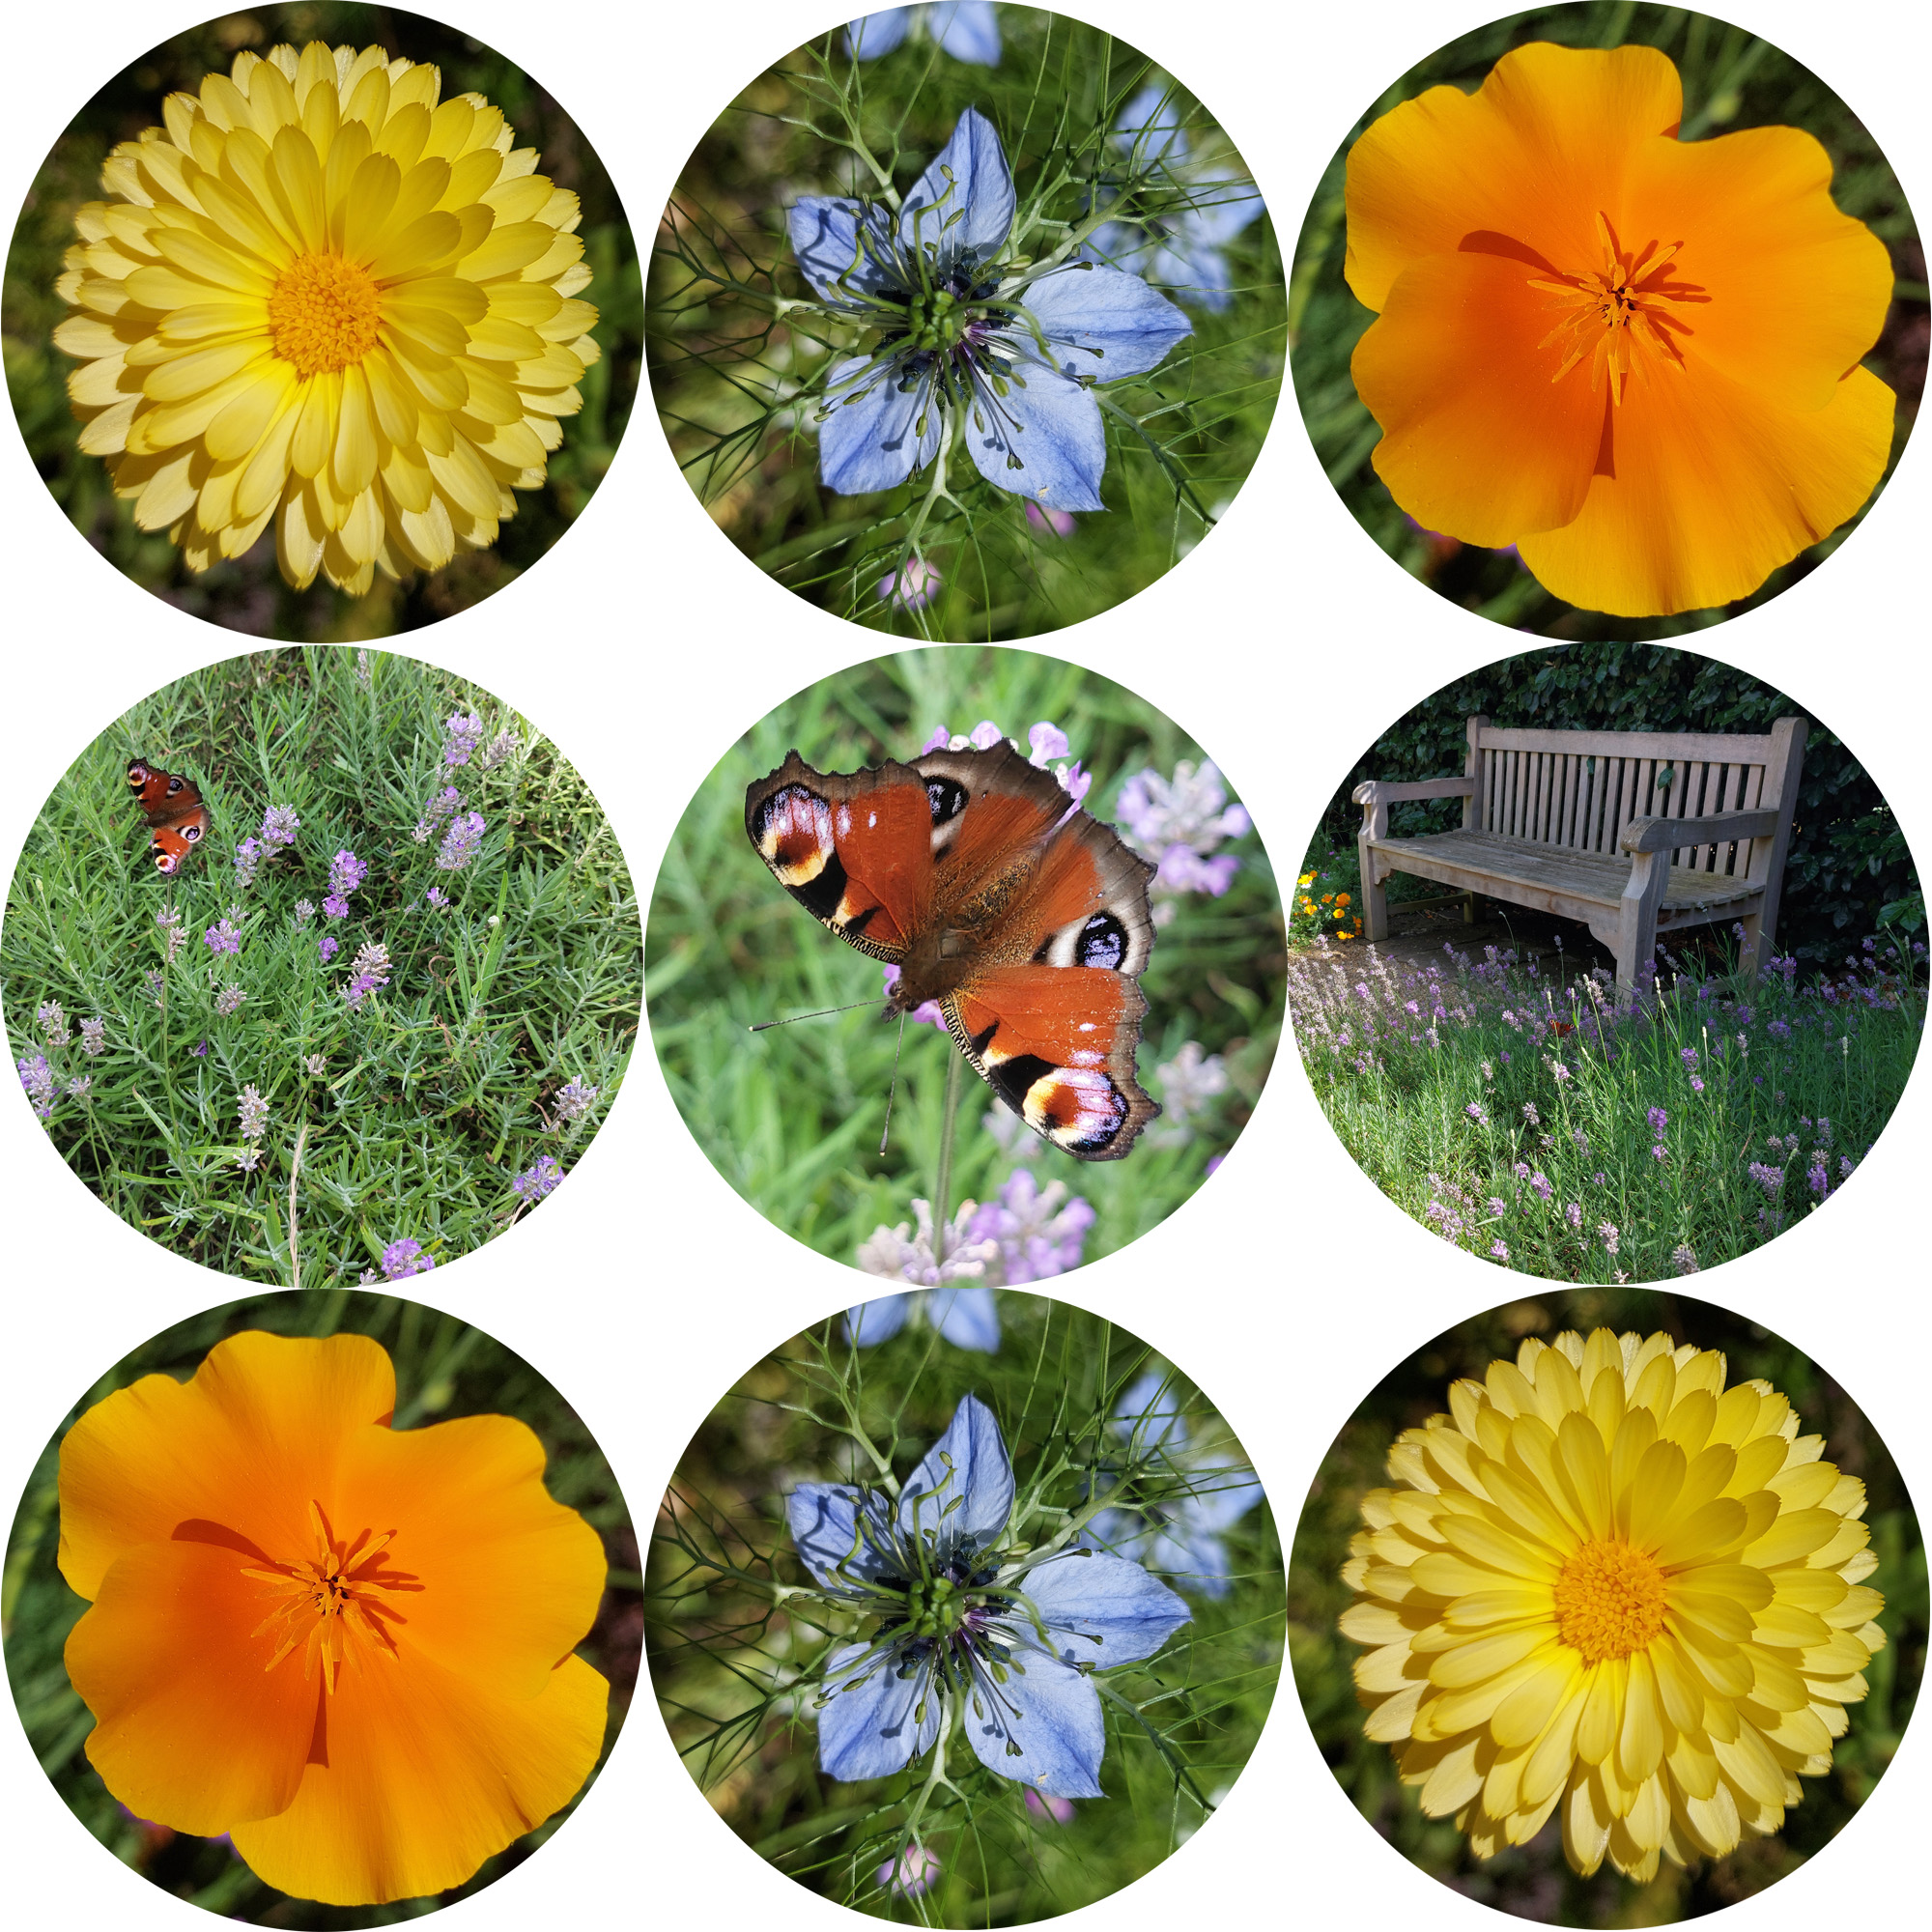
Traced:
[[806, 1482], [786, 1499], [811, 1575], [879, 1619], [825, 1660], [819, 1766], [889, 1777], [952, 1725], [980, 1762], [1047, 1797], [1097, 1799], [1107, 1747], [1095, 1669], [1151, 1658], [1188, 1607], [1138, 1563], [1005, 1549], [1012, 1463], [968, 1395], [895, 1503]]

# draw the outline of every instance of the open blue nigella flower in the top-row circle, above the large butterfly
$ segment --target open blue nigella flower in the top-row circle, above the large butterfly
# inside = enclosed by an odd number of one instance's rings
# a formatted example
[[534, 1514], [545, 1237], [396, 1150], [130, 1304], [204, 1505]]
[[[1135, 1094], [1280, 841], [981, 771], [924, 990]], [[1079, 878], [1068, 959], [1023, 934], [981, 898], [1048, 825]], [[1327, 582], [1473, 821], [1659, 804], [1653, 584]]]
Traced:
[[1122, 269], [1003, 265], [1012, 216], [1012, 174], [978, 108], [896, 218], [875, 201], [794, 203], [806, 280], [831, 311], [879, 330], [869, 355], [825, 383], [829, 489], [893, 489], [958, 435], [989, 483], [1055, 510], [1105, 508], [1107, 437], [1088, 390], [1146, 373], [1194, 325]]

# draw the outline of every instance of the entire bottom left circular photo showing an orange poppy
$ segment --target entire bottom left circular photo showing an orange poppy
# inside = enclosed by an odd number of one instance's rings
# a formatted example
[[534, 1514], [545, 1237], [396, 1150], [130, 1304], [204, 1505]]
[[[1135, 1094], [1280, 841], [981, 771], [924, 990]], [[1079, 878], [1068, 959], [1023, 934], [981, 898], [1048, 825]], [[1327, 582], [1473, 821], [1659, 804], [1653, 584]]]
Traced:
[[641, 1650], [630, 1513], [564, 1397], [352, 1289], [211, 1308], [108, 1368], [6, 1577], [62, 1801], [243, 1924], [383, 1926], [514, 1870], [601, 1770]]

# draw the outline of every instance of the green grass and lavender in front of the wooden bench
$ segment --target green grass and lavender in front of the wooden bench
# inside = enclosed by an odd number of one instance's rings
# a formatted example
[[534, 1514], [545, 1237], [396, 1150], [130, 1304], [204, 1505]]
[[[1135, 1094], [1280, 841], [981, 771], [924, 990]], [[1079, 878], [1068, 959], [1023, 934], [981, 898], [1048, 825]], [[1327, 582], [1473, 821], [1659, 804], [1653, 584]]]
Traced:
[[1922, 951], [1903, 937], [1806, 983], [1795, 960], [1754, 981], [1685, 960], [1636, 997], [1561, 954], [1553, 976], [1486, 954], [1302, 954], [1296, 1041], [1389, 1200], [1555, 1281], [1667, 1281], [1826, 1208], [1891, 1119], [1924, 1032]]

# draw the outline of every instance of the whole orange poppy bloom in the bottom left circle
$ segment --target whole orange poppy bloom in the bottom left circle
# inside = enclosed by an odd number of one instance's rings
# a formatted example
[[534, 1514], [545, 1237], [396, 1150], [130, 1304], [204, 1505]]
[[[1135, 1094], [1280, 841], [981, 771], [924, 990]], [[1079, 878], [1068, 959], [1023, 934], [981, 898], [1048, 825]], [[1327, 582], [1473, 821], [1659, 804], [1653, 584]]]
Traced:
[[597, 1532], [508, 1416], [392, 1430], [363, 1335], [232, 1335], [60, 1445], [68, 1675], [139, 1818], [328, 1905], [460, 1886], [597, 1764]]

